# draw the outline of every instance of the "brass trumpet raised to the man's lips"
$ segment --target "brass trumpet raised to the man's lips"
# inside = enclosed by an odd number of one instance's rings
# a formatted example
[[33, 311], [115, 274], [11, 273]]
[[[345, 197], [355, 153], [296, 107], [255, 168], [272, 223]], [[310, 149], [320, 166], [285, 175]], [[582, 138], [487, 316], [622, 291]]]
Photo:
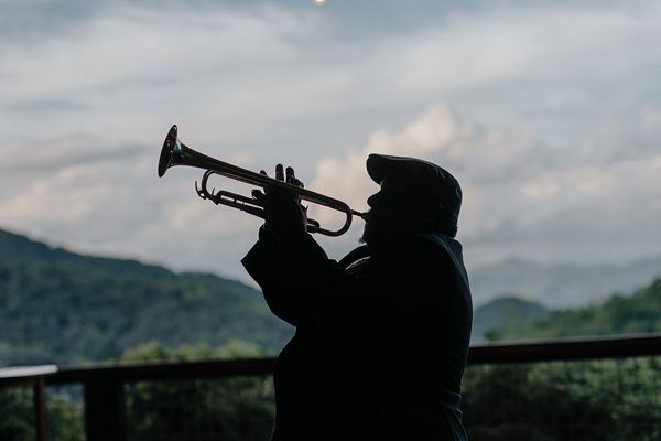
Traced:
[[275, 187], [284, 189], [296, 194], [301, 201], [307, 201], [313, 204], [323, 205], [345, 214], [345, 223], [338, 229], [323, 228], [317, 220], [308, 218], [306, 228], [310, 233], [318, 233], [325, 236], [342, 236], [351, 226], [354, 216], [358, 216], [360, 218], [364, 218], [365, 216], [365, 213], [351, 209], [346, 203], [336, 198], [328, 197], [273, 178], [269, 178], [260, 173], [254, 173], [199, 153], [180, 141], [176, 126], [172, 126], [167, 132], [167, 136], [165, 137], [165, 141], [163, 142], [163, 148], [161, 149], [161, 155], [159, 158], [159, 178], [162, 178], [167, 169], [174, 165], [188, 165], [206, 170], [202, 176], [199, 186], [197, 185], [197, 181], [195, 182], [197, 195], [203, 200], [212, 201], [216, 205], [227, 205], [262, 219], [266, 218], [266, 214], [264, 207], [260, 201], [254, 197], [243, 196], [224, 190], [216, 191], [213, 189], [209, 191], [209, 178], [214, 174], [218, 174], [247, 184], [261, 186], [264, 190]]

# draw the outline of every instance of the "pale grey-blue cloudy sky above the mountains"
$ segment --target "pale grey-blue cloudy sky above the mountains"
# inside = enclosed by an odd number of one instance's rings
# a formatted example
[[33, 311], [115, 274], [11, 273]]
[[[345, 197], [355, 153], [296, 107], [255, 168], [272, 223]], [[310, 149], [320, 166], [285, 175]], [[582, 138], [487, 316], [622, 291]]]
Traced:
[[356, 209], [369, 152], [436, 162], [469, 268], [658, 256], [660, 42], [653, 0], [2, 0], [0, 228], [247, 281], [259, 219], [156, 178], [176, 123]]

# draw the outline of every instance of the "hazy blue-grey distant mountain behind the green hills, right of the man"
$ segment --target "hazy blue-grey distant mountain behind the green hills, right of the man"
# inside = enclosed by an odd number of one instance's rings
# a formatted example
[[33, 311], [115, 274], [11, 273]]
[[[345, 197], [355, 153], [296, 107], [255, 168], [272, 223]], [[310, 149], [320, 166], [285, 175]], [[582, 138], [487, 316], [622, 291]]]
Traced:
[[661, 257], [628, 265], [542, 266], [510, 259], [470, 271], [476, 305], [516, 293], [553, 309], [597, 303], [615, 293], [632, 292], [661, 277]]

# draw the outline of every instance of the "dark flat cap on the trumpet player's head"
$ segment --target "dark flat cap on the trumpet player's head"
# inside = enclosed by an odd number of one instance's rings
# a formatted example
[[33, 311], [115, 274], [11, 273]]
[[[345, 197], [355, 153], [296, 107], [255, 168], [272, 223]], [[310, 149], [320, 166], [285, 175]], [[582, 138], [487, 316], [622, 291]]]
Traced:
[[367, 173], [378, 184], [384, 179], [400, 181], [411, 186], [415, 196], [443, 203], [438, 232], [456, 236], [462, 187], [447, 170], [421, 159], [371, 153], [367, 158]]

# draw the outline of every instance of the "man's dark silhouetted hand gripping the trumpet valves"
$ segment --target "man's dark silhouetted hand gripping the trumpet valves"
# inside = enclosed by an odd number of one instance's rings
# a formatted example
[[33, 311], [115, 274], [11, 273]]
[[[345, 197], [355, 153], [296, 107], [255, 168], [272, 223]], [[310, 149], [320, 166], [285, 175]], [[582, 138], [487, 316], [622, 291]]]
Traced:
[[[260, 173], [267, 175], [263, 170]], [[294, 169], [291, 166], [288, 166], [285, 171], [282, 164], [275, 165], [275, 179], [303, 187], [303, 183], [296, 179]], [[305, 234], [307, 230], [307, 216], [296, 192], [267, 186], [263, 193], [253, 190], [252, 196], [264, 207], [264, 228], [273, 233], [279, 239], [292, 239]]]

